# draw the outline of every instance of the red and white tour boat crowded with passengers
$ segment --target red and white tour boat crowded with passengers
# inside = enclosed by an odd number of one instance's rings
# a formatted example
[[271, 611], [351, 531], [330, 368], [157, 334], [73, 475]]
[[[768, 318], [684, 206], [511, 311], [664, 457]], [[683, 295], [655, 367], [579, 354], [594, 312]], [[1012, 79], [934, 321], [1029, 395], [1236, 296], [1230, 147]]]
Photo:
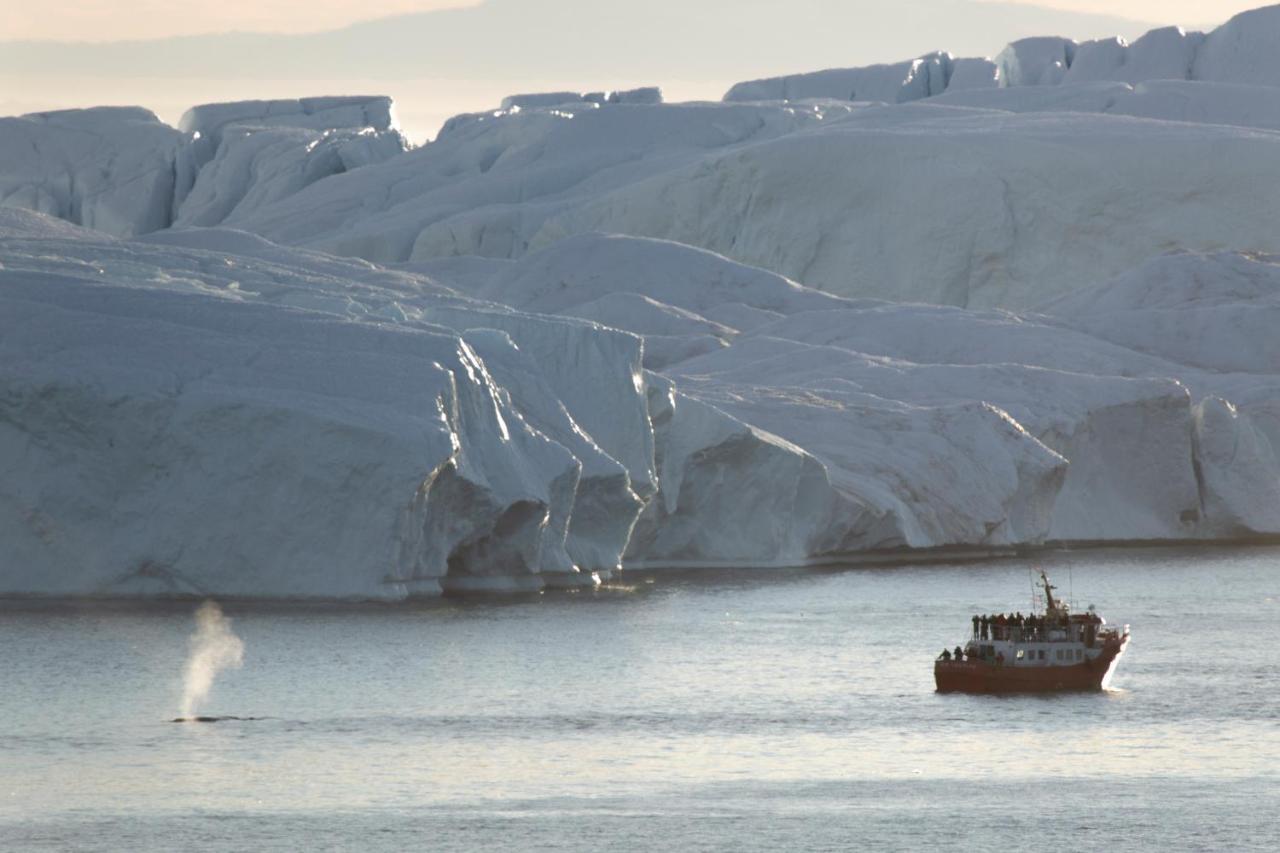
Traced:
[[1043, 570], [1043, 612], [974, 616], [973, 637], [933, 663], [938, 693], [1102, 690], [1129, 644], [1129, 626], [1107, 625], [1091, 606], [1073, 613]]

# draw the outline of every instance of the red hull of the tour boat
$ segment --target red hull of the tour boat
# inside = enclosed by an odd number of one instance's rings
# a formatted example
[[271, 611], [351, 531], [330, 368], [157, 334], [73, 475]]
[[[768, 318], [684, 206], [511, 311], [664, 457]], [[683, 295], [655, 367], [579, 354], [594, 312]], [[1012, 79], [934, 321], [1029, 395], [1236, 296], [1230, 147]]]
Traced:
[[1005, 666], [983, 661], [936, 661], [938, 693], [1057, 693], [1101, 690], [1129, 637], [1107, 643], [1102, 654], [1071, 666]]

